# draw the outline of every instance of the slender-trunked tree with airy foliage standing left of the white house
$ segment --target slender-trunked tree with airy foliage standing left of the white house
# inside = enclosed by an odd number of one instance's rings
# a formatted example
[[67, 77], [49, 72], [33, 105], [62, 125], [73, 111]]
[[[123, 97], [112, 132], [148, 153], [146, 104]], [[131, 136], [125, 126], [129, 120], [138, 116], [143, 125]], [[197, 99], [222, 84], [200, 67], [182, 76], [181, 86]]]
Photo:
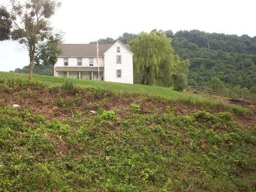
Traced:
[[[13, 27], [8, 38], [26, 45], [29, 53], [29, 79], [32, 78], [34, 64], [55, 64], [61, 50], [57, 47], [62, 42], [62, 35], [55, 33], [49, 19], [60, 7], [55, 0], [26, 0], [23, 4], [11, 0], [11, 10], [5, 18]], [[9, 15], [9, 16], [8, 16]], [[0, 19], [2, 22], [2, 17]], [[2, 31], [2, 28], [0, 28]], [[2, 40], [2, 39], [0, 39]]]

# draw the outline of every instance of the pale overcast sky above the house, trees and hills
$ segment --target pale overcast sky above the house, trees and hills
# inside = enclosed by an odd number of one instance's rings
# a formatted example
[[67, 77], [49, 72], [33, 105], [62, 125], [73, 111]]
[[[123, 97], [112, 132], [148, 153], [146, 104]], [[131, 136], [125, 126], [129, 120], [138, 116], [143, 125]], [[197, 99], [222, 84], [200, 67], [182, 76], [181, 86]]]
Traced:
[[[23, 0], [21, 0], [23, 1]], [[256, 0], [59, 0], [51, 24], [64, 32], [65, 43], [117, 38], [124, 32], [198, 29], [256, 36]], [[0, 0], [0, 4], [9, 0]], [[29, 64], [27, 51], [0, 41], [0, 71]]]

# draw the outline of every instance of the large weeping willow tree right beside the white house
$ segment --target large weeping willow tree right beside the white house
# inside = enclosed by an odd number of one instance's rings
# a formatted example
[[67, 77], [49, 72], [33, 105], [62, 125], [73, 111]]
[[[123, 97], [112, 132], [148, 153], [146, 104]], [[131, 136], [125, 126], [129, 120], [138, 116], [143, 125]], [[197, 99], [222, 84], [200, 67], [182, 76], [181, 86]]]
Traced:
[[134, 53], [134, 76], [144, 85], [168, 86], [177, 58], [171, 48], [171, 38], [154, 29], [140, 33], [129, 42]]

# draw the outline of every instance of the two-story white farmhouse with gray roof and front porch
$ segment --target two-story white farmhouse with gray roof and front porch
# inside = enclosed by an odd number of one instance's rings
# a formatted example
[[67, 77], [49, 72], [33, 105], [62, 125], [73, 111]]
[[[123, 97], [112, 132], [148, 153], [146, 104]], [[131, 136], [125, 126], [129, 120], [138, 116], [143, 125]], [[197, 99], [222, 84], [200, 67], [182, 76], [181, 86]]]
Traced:
[[[95, 44], [60, 44], [62, 53], [53, 66], [54, 77], [99, 80]], [[133, 53], [128, 44], [99, 44], [100, 80], [133, 83]]]

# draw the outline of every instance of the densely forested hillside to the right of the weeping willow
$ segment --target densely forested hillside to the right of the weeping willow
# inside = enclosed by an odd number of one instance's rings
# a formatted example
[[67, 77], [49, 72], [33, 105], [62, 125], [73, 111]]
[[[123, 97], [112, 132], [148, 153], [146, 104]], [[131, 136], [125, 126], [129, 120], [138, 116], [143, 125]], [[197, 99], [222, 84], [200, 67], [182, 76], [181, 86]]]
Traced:
[[190, 59], [189, 84], [207, 85], [218, 77], [226, 87], [251, 88], [256, 83], [256, 37], [205, 33], [166, 33], [181, 59]]

